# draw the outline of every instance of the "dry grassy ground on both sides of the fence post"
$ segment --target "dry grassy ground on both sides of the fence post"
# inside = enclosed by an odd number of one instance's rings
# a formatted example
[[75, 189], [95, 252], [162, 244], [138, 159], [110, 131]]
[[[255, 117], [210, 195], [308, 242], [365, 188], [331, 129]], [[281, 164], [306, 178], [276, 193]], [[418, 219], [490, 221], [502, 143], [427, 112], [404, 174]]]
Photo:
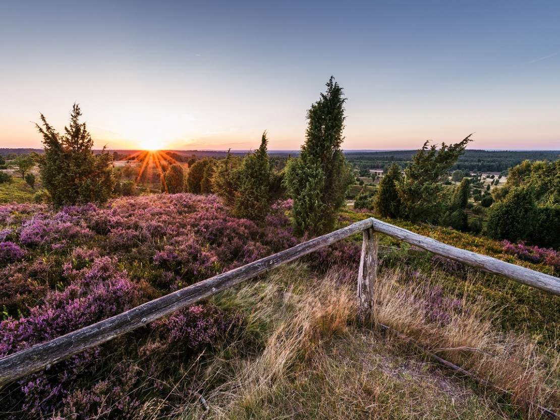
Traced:
[[[405, 282], [396, 270], [379, 280], [375, 318], [514, 391], [517, 402], [478, 389], [409, 343], [360, 324], [354, 277], [354, 269], [316, 276], [295, 263], [214, 297], [246, 316], [242, 336], [254, 338], [252, 350], [233, 343], [185, 367], [167, 415], [200, 418], [200, 396], [207, 419], [239, 420], [532, 418], [522, 398], [558, 403], [558, 358], [536, 354], [530, 339], [496, 332], [482, 303], [448, 308], [449, 320], [433, 321], [422, 303], [430, 301], [430, 288]], [[163, 404], [145, 404], [144, 417], [158, 418]]]

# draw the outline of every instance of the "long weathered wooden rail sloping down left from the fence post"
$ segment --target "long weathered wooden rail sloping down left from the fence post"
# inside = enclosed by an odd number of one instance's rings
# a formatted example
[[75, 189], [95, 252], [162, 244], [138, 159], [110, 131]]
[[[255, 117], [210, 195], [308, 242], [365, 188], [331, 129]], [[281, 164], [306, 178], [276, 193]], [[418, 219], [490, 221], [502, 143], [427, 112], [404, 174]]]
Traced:
[[55, 338], [47, 343], [25, 349], [0, 359], [0, 386], [60, 362], [88, 348], [99, 346], [110, 339], [128, 333], [140, 326], [171, 314], [203, 298], [225, 290], [270, 269], [289, 263], [341, 239], [371, 227], [371, 219], [353, 223], [330, 234], [316, 237], [293, 248], [262, 258], [185, 287], [169, 295], [137, 306], [122, 314], [86, 326], [80, 330]]

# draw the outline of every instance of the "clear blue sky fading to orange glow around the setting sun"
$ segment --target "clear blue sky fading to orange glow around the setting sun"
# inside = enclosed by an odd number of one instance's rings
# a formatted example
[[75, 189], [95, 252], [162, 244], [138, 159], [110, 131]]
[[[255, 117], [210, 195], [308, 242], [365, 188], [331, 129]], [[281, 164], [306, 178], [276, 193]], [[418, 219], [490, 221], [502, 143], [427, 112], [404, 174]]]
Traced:
[[109, 150], [298, 150], [330, 76], [346, 150], [560, 150], [560, 2], [27, 1], [0, 13], [0, 147], [80, 104]]

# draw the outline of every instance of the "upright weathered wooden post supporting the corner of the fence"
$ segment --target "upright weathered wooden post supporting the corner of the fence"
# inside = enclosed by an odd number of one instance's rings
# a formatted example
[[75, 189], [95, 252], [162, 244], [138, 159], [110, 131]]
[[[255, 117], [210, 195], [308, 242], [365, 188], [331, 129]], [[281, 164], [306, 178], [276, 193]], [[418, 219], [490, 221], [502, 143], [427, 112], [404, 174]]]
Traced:
[[358, 271], [358, 305], [360, 318], [363, 320], [373, 316], [375, 279], [377, 277], [377, 246], [379, 234], [373, 228], [363, 231], [362, 255]]

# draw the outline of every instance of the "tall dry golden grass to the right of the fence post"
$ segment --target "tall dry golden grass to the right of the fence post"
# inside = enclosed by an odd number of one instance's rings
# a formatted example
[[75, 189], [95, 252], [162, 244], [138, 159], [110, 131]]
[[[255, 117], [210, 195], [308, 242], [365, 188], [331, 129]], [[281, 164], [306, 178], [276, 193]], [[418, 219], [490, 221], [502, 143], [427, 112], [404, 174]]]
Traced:
[[[437, 274], [436, 274], [437, 276]], [[558, 404], [545, 383], [558, 366], [558, 354], [545, 360], [535, 340], [498, 333], [492, 320], [499, 310], [482, 300], [467, 303], [445, 297], [428, 282], [403, 281], [399, 270], [381, 276], [375, 289], [375, 320], [406, 335], [424, 349], [510, 391], [515, 403]], [[531, 407], [528, 407], [531, 415]]]

